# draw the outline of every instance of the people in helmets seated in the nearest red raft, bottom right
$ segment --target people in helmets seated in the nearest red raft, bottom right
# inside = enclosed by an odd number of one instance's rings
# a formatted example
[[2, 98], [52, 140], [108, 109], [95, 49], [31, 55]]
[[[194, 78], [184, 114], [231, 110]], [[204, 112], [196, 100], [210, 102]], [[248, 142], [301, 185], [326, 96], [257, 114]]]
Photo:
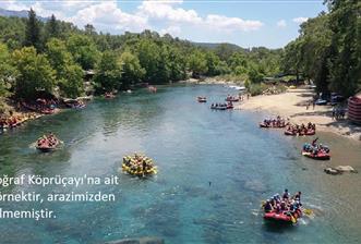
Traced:
[[286, 188], [281, 197], [279, 194], [276, 194], [266, 200], [264, 204], [264, 211], [277, 213], [287, 212], [294, 215], [301, 206], [301, 192], [297, 192], [293, 196], [291, 196]]

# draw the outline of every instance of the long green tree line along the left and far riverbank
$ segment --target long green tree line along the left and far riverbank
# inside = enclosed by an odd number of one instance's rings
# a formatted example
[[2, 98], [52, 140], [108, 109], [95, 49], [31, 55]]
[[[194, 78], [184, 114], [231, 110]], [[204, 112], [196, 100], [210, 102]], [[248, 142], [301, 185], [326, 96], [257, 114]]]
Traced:
[[280, 51], [227, 44], [210, 49], [151, 30], [103, 34], [55, 15], [41, 22], [31, 10], [28, 19], [0, 17], [0, 97], [35, 99], [46, 91], [74, 98], [84, 94], [88, 70], [98, 94], [190, 76], [232, 74], [260, 82], [279, 72]]

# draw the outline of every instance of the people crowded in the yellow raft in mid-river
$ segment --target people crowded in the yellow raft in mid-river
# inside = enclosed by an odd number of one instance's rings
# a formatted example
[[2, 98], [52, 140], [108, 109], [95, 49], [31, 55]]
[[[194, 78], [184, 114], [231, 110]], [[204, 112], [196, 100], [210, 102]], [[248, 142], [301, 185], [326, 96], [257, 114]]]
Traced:
[[122, 170], [137, 176], [145, 176], [157, 173], [153, 160], [146, 156], [134, 154], [123, 158]]

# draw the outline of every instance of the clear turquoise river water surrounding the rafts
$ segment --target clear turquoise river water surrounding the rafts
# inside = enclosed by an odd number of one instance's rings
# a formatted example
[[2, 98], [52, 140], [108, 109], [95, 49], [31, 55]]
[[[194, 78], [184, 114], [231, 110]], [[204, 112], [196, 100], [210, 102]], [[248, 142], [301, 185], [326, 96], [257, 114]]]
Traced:
[[[361, 174], [328, 175], [327, 166], [360, 170], [360, 145], [320, 133], [332, 147], [328, 162], [302, 158], [302, 143], [277, 130], [261, 130], [262, 113], [212, 111], [232, 90], [217, 85], [165, 86], [113, 100], [95, 99], [84, 110], [44, 117], [0, 135], [0, 174], [119, 175], [120, 185], [80, 188], [21, 185], [2, 193], [36, 191], [112, 193], [116, 203], [0, 203], [4, 209], [48, 208], [56, 219], [0, 219], [0, 243], [104, 243], [160, 236], [166, 243], [360, 243]], [[207, 96], [208, 103], [195, 97]], [[31, 144], [47, 132], [64, 145], [40, 154]], [[141, 180], [119, 171], [127, 154], [145, 152], [158, 174]], [[209, 185], [210, 182], [210, 185]], [[264, 222], [261, 200], [301, 191], [314, 211], [293, 227]]]

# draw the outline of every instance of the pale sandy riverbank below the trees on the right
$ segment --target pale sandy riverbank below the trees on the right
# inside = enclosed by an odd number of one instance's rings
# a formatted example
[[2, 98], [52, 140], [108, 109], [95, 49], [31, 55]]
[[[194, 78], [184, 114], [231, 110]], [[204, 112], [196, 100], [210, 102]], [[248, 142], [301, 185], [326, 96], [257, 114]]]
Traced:
[[238, 108], [281, 115], [289, 118], [292, 123], [313, 122], [320, 131], [336, 133], [361, 142], [361, 126], [351, 124], [348, 120], [333, 120], [330, 106], [315, 106], [314, 109], [310, 106], [306, 110], [306, 103], [312, 100], [312, 90], [291, 89], [279, 95], [251, 97]]

